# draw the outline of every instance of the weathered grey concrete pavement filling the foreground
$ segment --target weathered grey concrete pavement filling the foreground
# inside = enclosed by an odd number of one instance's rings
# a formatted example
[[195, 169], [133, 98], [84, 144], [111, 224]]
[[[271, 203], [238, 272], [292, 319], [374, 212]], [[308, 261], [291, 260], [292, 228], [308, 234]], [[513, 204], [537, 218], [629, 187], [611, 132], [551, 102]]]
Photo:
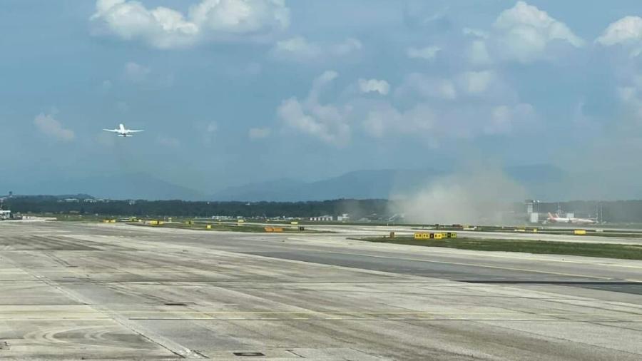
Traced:
[[0, 223], [0, 360], [642, 360], [642, 262], [335, 230]]

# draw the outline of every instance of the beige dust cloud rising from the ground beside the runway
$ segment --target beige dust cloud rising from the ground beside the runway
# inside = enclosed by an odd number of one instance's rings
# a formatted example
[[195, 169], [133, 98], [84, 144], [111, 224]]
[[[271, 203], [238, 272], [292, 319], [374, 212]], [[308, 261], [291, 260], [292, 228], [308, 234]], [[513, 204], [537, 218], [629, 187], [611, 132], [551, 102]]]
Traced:
[[437, 178], [411, 194], [395, 194], [392, 212], [407, 223], [514, 223], [511, 207], [526, 199], [526, 190], [499, 166], [474, 166]]

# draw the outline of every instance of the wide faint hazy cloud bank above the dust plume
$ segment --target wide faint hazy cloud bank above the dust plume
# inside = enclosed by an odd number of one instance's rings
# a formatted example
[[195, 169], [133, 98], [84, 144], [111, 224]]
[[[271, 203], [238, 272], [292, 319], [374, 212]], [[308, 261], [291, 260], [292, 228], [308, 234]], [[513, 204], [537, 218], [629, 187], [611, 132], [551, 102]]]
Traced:
[[534, 108], [519, 101], [494, 70], [444, 77], [412, 73], [392, 99], [395, 103], [362, 112], [370, 136], [416, 135], [439, 146], [447, 139], [509, 134], [536, 125]]

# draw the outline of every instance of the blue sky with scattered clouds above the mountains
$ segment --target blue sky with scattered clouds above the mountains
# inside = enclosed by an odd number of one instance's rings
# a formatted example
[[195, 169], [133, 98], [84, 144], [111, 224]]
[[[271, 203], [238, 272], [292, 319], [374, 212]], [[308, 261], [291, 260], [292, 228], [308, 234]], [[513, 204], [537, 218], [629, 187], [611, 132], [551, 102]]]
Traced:
[[[142, 171], [211, 193], [487, 158], [640, 176], [638, 1], [0, 6], [12, 186]], [[121, 122], [146, 133], [101, 131]]]

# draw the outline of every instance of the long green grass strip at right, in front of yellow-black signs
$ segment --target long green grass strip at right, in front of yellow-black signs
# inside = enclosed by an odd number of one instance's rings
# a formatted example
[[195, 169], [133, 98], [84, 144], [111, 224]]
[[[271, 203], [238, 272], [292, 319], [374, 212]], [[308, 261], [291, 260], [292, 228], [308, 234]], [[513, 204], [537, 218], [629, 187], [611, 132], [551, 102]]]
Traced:
[[549, 242], [544, 240], [486, 240], [479, 238], [449, 238], [444, 240], [415, 240], [412, 237], [360, 238], [368, 242], [397, 243], [424, 247], [457, 248], [504, 252], [539, 253], [549, 255], [581, 255], [586, 257], [642, 260], [642, 245], [606, 243]]

